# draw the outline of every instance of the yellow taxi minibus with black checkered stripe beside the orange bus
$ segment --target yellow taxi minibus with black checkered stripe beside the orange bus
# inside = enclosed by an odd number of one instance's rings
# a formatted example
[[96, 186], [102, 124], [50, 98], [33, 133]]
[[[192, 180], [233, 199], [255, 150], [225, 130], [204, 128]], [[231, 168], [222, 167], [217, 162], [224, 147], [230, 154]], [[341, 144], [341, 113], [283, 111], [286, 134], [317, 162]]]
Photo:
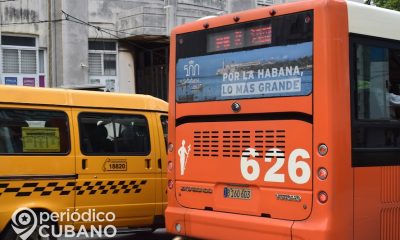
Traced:
[[156, 227], [167, 108], [145, 95], [0, 86], [1, 236]]

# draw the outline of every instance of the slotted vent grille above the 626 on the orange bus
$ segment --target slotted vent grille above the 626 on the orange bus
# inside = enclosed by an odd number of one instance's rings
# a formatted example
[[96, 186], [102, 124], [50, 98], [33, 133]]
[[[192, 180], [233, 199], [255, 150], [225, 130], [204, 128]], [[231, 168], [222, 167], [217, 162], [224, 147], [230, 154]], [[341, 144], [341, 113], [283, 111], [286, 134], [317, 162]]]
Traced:
[[194, 131], [194, 156], [241, 157], [247, 148], [257, 150], [257, 158], [265, 158], [271, 149], [285, 152], [285, 130], [222, 130]]

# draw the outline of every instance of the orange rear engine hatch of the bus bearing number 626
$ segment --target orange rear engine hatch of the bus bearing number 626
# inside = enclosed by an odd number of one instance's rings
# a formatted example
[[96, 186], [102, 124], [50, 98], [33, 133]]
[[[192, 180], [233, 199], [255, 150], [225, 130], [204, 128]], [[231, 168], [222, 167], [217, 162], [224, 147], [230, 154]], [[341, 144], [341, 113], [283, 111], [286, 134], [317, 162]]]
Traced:
[[182, 206], [287, 220], [310, 214], [311, 123], [186, 123], [177, 127], [176, 139]]

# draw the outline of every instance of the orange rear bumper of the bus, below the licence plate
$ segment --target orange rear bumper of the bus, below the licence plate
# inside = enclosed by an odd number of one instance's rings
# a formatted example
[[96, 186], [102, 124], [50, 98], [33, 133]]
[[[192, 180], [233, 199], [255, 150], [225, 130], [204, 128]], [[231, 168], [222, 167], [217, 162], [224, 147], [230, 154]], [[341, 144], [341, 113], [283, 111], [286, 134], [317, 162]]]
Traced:
[[293, 224], [287, 220], [170, 206], [165, 215], [168, 232], [203, 239], [290, 240]]

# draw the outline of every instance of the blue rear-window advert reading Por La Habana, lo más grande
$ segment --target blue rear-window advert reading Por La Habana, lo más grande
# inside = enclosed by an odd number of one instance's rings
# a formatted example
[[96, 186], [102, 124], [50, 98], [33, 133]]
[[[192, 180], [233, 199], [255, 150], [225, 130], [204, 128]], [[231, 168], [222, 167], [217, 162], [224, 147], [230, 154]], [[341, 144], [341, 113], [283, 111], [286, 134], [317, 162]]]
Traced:
[[312, 91], [312, 42], [179, 59], [176, 100], [305, 96]]

